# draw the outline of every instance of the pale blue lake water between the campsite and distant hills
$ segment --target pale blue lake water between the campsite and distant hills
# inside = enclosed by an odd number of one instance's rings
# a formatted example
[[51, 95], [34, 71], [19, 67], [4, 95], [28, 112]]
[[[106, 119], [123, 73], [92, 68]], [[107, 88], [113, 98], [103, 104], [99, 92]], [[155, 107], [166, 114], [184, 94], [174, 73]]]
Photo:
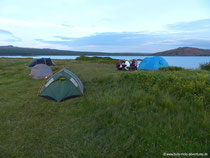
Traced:
[[[1, 56], [6, 58], [51, 58], [51, 59], [75, 59], [78, 56]], [[101, 56], [104, 57], [104, 56]], [[109, 56], [113, 59], [144, 59], [147, 56]], [[210, 56], [164, 56], [169, 66], [180, 66], [186, 69], [198, 69], [200, 64], [210, 62]]]

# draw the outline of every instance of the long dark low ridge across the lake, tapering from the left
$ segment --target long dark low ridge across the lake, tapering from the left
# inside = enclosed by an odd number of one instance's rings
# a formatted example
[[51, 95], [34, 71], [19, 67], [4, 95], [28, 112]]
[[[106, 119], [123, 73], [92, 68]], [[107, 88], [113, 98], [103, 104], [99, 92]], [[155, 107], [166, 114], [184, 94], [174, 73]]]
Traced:
[[[108, 53], [108, 52], [85, 52], [68, 51], [57, 49], [21, 48], [14, 46], [0, 46], [0, 56], [39, 56], [39, 55], [65, 55], [65, 56], [145, 56], [146, 53]], [[151, 55], [151, 54], [150, 54]]]

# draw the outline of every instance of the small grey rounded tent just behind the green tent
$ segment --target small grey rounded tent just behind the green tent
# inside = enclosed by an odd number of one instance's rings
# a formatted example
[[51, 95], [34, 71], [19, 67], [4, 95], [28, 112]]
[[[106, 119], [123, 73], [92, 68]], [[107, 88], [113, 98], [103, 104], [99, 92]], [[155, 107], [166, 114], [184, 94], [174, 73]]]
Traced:
[[49, 66], [45, 64], [36, 64], [32, 69], [31, 69], [31, 77], [40, 80], [44, 79], [46, 76], [51, 76], [52, 75], [52, 70]]

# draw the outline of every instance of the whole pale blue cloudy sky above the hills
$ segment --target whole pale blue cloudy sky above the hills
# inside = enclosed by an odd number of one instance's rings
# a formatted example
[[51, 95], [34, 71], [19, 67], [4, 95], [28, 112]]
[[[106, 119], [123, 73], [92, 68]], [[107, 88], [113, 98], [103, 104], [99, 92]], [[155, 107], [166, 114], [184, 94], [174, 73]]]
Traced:
[[210, 49], [210, 0], [0, 0], [0, 46], [154, 53]]

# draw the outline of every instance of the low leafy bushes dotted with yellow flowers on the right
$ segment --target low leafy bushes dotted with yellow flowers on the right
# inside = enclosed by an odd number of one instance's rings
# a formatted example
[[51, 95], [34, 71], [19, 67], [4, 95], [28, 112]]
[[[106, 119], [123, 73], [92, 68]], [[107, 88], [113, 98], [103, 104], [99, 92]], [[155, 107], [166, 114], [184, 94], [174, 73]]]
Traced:
[[201, 101], [202, 105], [207, 105], [210, 100], [208, 93], [209, 76], [200, 73], [194, 75], [186, 74], [186, 71], [123, 73], [120, 75], [118, 82], [121, 82], [122, 85], [128, 85], [130, 81], [132, 81], [134, 87], [150, 94], [168, 93], [177, 99], [186, 99], [192, 104]]

